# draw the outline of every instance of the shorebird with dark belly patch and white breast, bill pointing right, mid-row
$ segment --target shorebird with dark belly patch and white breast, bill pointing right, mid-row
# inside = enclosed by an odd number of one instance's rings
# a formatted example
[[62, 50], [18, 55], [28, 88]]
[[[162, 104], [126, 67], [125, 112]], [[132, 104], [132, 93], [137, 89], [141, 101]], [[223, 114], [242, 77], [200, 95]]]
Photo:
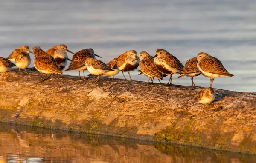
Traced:
[[116, 65], [117, 65], [118, 69], [122, 72], [124, 78], [125, 78], [124, 72], [128, 72], [130, 80], [131, 80], [130, 72], [137, 69], [137, 67], [139, 66], [139, 62], [140, 62], [139, 60], [134, 60], [136, 58], [138, 58], [138, 56], [137, 56], [137, 52], [135, 50], [126, 51], [124, 54], [121, 54], [118, 57]]

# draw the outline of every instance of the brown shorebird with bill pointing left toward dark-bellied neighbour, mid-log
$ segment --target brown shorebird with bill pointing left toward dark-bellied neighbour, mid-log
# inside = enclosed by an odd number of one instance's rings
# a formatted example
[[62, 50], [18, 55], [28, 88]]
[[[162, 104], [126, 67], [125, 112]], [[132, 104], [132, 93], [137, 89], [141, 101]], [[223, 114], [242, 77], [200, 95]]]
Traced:
[[[163, 77], [159, 71], [157, 71], [157, 68], [153, 62], [151, 62], [151, 56], [146, 51], [141, 51], [139, 54], [139, 57], [134, 60], [140, 60], [139, 68], [140, 71], [148, 78], [148, 82], [150, 79], [151, 83], [153, 83], [153, 78], [157, 77], [158, 80], [163, 80]], [[147, 82], [146, 85], [149, 83]]]

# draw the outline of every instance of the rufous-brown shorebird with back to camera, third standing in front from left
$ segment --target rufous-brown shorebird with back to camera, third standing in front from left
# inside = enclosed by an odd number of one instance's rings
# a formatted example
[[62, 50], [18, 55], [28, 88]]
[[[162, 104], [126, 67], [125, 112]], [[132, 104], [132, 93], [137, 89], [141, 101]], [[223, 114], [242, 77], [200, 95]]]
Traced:
[[[43, 51], [39, 46], [34, 46], [32, 51], [34, 53], [35, 69], [37, 69], [42, 74], [45, 74], [44, 79], [40, 82], [49, 79], [52, 73], [63, 74], [58, 67], [56, 60], [45, 51]], [[47, 74], [50, 74], [50, 76], [45, 78]]]

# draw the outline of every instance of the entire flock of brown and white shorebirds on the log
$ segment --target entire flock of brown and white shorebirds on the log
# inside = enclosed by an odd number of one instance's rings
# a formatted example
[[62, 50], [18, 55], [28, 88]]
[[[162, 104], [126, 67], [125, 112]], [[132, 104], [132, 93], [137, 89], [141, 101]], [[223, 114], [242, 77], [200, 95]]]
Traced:
[[[192, 86], [195, 86], [193, 77], [202, 74], [210, 78], [210, 87], [204, 88], [199, 92], [197, 100], [201, 103], [211, 103], [215, 99], [215, 93], [212, 89], [212, 83], [215, 77], [233, 77], [233, 74], [230, 74], [224, 68], [220, 60], [204, 52], [200, 52], [197, 57], [187, 60], [185, 66], [175, 56], [164, 49], [157, 49], [154, 57], [150, 56], [146, 51], [140, 52], [139, 56], [137, 56], [135, 50], [129, 50], [121, 54], [118, 58], [114, 58], [108, 64], [105, 64], [101, 60], [95, 59], [96, 56], [100, 56], [96, 55], [91, 48], [82, 49], [73, 53], [63, 44], [53, 46], [46, 52], [39, 46], [34, 46], [32, 51], [29, 50], [28, 46], [20, 46], [12, 51], [9, 57], [0, 57], [0, 72], [5, 74], [10, 68], [17, 66], [19, 71], [20, 69], [24, 69], [26, 74], [28, 74], [26, 68], [31, 63], [29, 53], [33, 53], [35, 69], [45, 74], [43, 80], [41, 80], [42, 82], [47, 80], [53, 73], [63, 74], [62, 70], [66, 67], [67, 60], [70, 60], [67, 57], [67, 52], [74, 55], [65, 71], [79, 71], [81, 80], [88, 78], [85, 76], [82, 78], [80, 75], [80, 71], [83, 71], [84, 74], [85, 70], [91, 73], [89, 76], [98, 76], [96, 82], [99, 81], [100, 76], [113, 76], [114, 78], [120, 71], [124, 78], [124, 72], [128, 72], [131, 79], [130, 72], [139, 67], [140, 74], [147, 76], [148, 82], [151, 80], [151, 83], [153, 83], [154, 78], [157, 78], [160, 82], [160, 80], [163, 80], [163, 77], [170, 76], [167, 85], [171, 85], [172, 75], [180, 74], [178, 78], [184, 76], [191, 77]], [[15, 62], [16, 65], [11, 61]], [[49, 77], [47, 77], [47, 74], [49, 74]], [[148, 82], [147, 85], [149, 84]]]

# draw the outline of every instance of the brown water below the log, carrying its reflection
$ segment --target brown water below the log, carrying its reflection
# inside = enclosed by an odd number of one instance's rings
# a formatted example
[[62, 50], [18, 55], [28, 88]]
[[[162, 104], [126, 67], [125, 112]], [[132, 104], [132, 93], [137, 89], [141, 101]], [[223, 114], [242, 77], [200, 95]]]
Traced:
[[255, 155], [0, 123], [0, 163], [255, 163]]

